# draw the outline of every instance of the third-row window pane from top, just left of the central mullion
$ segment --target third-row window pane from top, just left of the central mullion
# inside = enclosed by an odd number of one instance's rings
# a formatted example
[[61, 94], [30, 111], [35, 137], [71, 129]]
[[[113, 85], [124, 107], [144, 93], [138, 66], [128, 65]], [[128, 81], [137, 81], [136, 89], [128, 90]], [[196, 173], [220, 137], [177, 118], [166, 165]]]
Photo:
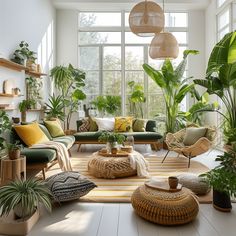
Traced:
[[104, 70], [121, 69], [121, 47], [104, 47], [103, 57]]

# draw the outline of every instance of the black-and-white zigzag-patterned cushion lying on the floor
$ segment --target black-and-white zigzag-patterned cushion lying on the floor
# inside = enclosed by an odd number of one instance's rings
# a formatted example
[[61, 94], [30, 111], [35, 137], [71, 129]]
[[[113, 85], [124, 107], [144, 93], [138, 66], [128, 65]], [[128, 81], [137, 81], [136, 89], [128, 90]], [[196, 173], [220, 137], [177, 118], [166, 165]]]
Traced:
[[58, 202], [78, 199], [97, 187], [92, 181], [77, 171], [55, 174], [46, 179], [53, 198]]

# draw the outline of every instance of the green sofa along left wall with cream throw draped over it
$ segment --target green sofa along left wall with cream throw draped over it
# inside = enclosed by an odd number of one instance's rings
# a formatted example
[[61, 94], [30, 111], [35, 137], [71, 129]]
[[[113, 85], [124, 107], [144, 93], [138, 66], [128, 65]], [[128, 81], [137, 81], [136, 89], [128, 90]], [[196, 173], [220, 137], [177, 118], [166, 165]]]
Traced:
[[[49, 140], [63, 143], [70, 154], [69, 150], [75, 142], [74, 136], [66, 135], [52, 138], [49, 131], [43, 124], [39, 124], [39, 126], [41, 130], [49, 138]], [[56, 151], [50, 148], [37, 148], [37, 149], [28, 148], [13, 129], [12, 132], [10, 133], [10, 142], [14, 143], [16, 141], [19, 141], [23, 146], [21, 150], [21, 155], [26, 156], [26, 168], [42, 170], [43, 177], [45, 178], [45, 171], [48, 168], [50, 168], [53, 164], [57, 163]]]

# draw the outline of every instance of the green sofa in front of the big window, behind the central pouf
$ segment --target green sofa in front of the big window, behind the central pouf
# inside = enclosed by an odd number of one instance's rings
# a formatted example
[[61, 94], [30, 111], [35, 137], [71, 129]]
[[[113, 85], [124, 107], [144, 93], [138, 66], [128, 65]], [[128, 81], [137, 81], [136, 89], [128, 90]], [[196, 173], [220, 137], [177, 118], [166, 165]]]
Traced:
[[[82, 144], [98, 144], [98, 137], [101, 134], [101, 131], [78, 132], [82, 123], [82, 120], [77, 121], [77, 133], [74, 134], [75, 144], [78, 144], [78, 151], [80, 150]], [[132, 135], [134, 137], [135, 144], [150, 144], [152, 149], [155, 149], [156, 151], [160, 148], [160, 140], [162, 139], [162, 135], [157, 132], [155, 120], [148, 120], [145, 132], [127, 132], [122, 134], [125, 136]]]

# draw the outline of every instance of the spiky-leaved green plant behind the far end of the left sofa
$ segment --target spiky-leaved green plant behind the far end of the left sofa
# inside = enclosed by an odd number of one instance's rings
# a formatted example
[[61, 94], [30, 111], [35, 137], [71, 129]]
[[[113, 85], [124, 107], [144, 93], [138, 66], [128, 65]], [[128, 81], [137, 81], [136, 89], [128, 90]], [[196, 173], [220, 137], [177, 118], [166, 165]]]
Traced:
[[58, 118], [59, 120], [64, 121], [65, 114], [63, 112], [64, 104], [62, 96], [50, 96], [48, 99], [49, 103], [46, 103], [46, 114], [47, 118]]

